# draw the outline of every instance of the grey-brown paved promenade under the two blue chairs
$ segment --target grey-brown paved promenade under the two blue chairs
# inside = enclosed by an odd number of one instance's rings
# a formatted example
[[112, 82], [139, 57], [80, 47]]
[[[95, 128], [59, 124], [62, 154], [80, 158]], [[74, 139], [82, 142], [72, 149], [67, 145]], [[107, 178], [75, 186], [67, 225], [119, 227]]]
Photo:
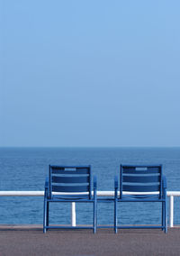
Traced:
[[0, 256], [180, 255], [180, 228], [160, 230], [49, 230], [0, 226]]

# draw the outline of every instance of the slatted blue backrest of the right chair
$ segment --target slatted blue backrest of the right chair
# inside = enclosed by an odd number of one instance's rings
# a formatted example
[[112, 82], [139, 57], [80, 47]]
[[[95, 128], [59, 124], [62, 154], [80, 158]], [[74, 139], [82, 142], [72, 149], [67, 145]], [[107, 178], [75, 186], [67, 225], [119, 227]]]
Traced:
[[[136, 194], [141, 197], [139, 192], [150, 194], [158, 192], [158, 197], [162, 197], [162, 166], [130, 166], [121, 165], [120, 167], [120, 198], [123, 192]], [[150, 197], [150, 195], [149, 195]]]

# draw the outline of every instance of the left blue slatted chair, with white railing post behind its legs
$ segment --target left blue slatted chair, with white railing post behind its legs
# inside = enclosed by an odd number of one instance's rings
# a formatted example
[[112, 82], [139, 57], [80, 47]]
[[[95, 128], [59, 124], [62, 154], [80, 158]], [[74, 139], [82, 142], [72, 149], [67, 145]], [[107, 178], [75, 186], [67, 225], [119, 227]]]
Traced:
[[[92, 228], [96, 232], [97, 197], [94, 176], [94, 195], [92, 195], [91, 166], [52, 166], [49, 165], [49, 178], [45, 182], [43, 232], [50, 228]], [[93, 203], [94, 225], [54, 226], [49, 225], [49, 203]]]

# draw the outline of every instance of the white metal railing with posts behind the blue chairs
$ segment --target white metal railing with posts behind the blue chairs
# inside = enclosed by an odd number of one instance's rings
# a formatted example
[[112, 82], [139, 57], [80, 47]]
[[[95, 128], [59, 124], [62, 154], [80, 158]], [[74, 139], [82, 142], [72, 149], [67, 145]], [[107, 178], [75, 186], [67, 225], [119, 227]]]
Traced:
[[[169, 226], [174, 227], [174, 197], [180, 197], [180, 191], [167, 191], [169, 198]], [[44, 191], [0, 191], [0, 197], [43, 197]], [[114, 191], [97, 191], [97, 197], [114, 197]], [[71, 207], [71, 224], [76, 226], [76, 204]]]

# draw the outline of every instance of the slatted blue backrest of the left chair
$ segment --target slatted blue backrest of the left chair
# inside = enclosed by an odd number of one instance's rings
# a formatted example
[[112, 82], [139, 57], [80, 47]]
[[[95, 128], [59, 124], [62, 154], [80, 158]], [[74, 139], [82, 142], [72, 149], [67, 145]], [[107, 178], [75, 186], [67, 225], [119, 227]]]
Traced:
[[91, 198], [91, 166], [49, 165], [49, 197], [52, 192], [85, 193]]

